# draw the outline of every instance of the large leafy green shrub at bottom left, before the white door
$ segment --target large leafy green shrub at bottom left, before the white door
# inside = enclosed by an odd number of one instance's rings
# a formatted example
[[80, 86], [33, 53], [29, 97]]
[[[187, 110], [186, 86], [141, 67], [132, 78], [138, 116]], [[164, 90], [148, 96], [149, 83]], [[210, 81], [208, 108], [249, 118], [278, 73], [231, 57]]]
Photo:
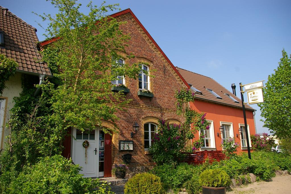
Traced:
[[[45, 157], [31, 167], [26, 167], [14, 179], [6, 193], [113, 193], [98, 180], [83, 178], [79, 165], [61, 155]], [[99, 188], [92, 191], [93, 188]]]

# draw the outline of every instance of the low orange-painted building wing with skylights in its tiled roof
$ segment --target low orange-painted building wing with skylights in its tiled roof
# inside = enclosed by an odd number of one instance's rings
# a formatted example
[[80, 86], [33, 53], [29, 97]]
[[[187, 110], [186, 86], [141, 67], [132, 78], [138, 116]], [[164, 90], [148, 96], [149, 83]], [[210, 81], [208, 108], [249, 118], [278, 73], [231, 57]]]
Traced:
[[[195, 92], [195, 101], [190, 103], [191, 108], [207, 113], [206, 119], [210, 123], [209, 130], [203, 131], [207, 137], [200, 151], [222, 150], [221, 139], [234, 137], [235, 142], [239, 143], [237, 152], [247, 152], [241, 99], [210, 77], [178, 67], [177, 69]], [[245, 109], [248, 134], [255, 134], [255, 110], [247, 104]], [[224, 129], [223, 133], [219, 130], [221, 126]], [[243, 128], [242, 133], [239, 132], [240, 127]], [[197, 133], [195, 139], [198, 137]], [[251, 147], [250, 138], [249, 142]]]

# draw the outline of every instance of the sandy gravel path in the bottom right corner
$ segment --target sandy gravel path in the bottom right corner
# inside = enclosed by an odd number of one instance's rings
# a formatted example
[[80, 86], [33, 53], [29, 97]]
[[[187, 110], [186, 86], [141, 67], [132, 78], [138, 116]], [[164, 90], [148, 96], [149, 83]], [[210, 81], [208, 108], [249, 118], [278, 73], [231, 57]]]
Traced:
[[227, 194], [291, 194], [291, 175], [280, 175], [272, 181], [254, 182], [241, 188], [235, 188]]

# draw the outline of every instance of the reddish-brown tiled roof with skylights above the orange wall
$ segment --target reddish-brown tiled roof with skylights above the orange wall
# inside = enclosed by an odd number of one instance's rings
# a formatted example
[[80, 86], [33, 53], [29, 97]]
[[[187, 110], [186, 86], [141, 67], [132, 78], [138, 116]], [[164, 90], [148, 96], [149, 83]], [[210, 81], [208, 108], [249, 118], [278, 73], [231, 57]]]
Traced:
[[[202, 99], [206, 101], [211, 101], [214, 103], [219, 103], [219, 104], [225, 104], [229, 106], [236, 106], [238, 108], [242, 108], [242, 101], [235, 95], [233, 95], [232, 92], [228, 91], [226, 88], [224, 88], [222, 85], [220, 85], [217, 81], [214, 79], [203, 76], [200, 74], [196, 74], [194, 72], [181, 69], [176, 67], [179, 71], [179, 73], [182, 75], [182, 77], [192, 86], [194, 86], [196, 89], [200, 90], [202, 92], [202, 95], [197, 94], [195, 97], [197, 99]], [[216, 94], [218, 94], [222, 99], [219, 99], [212, 95], [209, 91], [206, 89], [213, 90]], [[239, 87], [236, 88], [236, 90], [239, 89]], [[239, 94], [239, 90], [237, 91]], [[234, 99], [236, 99], [239, 103], [234, 102], [232, 99], [230, 99], [226, 94], [230, 95]], [[254, 110], [251, 106], [245, 104], [246, 109], [251, 109]]]

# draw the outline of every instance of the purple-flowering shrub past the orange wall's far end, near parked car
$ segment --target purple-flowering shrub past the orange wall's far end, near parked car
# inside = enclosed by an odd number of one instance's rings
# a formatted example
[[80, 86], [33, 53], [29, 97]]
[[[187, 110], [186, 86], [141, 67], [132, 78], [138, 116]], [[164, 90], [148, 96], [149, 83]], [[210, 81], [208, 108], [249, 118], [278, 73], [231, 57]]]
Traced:
[[272, 146], [275, 143], [273, 137], [270, 137], [267, 133], [263, 133], [263, 137], [260, 137], [259, 134], [251, 134], [251, 144], [253, 150], [256, 151], [271, 151]]

